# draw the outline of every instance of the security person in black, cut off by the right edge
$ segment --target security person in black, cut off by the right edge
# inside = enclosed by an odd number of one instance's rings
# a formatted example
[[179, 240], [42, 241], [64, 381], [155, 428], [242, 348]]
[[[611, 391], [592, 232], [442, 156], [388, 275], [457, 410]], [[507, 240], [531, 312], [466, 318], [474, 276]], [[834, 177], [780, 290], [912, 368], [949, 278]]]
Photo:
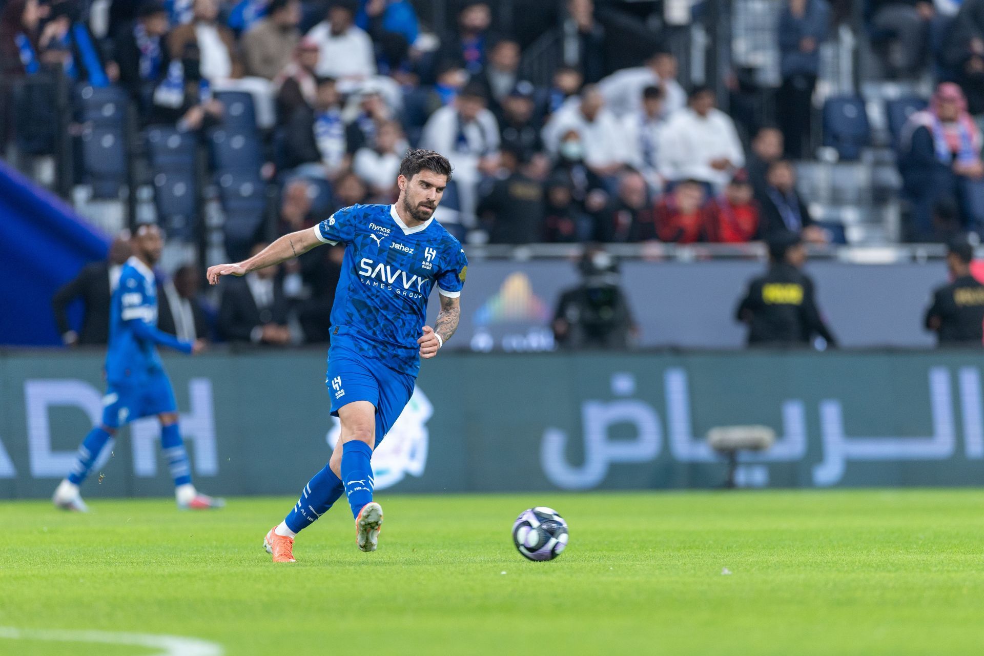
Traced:
[[970, 274], [973, 255], [964, 241], [953, 242], [947, 253], [953, 282], [933, 293], [926, 311], [926, 328], [937, 333], [940, 346], [980, 348], [984, 342], [984, 285]]

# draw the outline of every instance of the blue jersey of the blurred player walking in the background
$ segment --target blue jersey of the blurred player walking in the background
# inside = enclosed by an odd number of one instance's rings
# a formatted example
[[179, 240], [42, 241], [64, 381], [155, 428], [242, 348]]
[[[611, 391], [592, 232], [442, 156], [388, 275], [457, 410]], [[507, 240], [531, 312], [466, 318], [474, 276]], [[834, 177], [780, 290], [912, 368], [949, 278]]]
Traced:
[[154, 271], [130, 258], [109, 304], [109, 350], [106, 379], [113, 385], [140, 383], [163, 371], [157, 344], [191, 353], [192, 345], [157, 328]]

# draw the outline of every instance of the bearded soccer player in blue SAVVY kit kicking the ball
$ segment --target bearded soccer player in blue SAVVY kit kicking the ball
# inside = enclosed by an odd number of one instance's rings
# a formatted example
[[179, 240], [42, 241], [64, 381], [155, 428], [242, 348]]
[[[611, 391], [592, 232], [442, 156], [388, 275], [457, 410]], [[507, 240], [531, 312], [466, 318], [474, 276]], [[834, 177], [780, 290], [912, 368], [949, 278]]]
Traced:
[[[319, 225], [293, 232], [254, 257], [209, 268], [209, 281], [244, 275], [295, 258], [322, 244], [344, 244], [332, 309], [332, 345], [325, 380], [341, 439], [327, 466], [304, 486], [297, 504], [264, 538], [275, 563], [293, 563], [295, 535], [342, 494], [355, 517], [355, 542], [376, 551], [383, 508], [373, 501], [370, 458], [400, 416], [420, 369], [458, 328], [467, 271], [461, 244], [434, 220], [451, 180], [451, 163], [433, 150], [411, 150], [400, 162], [396, 205], [339, 209]], [[427, 297], [437, 285], [441, 311], [424, 326]]]

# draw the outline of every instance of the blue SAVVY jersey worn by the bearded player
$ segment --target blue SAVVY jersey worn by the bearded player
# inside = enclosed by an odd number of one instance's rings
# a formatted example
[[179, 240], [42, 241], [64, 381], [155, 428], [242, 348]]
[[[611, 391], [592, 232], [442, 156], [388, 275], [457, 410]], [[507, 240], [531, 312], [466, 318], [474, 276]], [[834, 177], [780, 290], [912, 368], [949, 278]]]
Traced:
[[461, 243], [432, 218], [409, 228], [395, 206], [339, 209], [314, 227], [326, 244], [344, 244], [332, 308], [332, 342], [416, 376], [417, 339], [436, 285], [461, 295], [468, 261]]

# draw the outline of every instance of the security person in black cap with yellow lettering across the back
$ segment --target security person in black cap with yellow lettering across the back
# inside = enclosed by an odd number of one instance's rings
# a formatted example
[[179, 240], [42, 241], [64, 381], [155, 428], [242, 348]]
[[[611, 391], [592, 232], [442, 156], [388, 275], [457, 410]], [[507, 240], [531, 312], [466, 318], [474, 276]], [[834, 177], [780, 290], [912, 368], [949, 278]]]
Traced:
[[749, 325], [749, 346], [806, 346], [814, 335], [836, 346], [817, 309], [813, 280], [800, 270], [805, 262], [799, 235], [782, 232], [769, 239], [769, 271], [752, 280], [736, 313]]

